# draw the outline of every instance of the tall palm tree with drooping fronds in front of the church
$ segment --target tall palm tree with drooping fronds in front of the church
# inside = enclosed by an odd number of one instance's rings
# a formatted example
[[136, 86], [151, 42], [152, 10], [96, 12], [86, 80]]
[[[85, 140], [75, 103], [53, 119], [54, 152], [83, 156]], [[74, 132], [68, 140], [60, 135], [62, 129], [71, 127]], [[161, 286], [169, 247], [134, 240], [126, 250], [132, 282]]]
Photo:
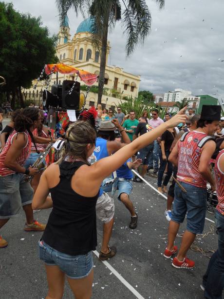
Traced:
[[[160, 9], [165, 0], [154, 0]], [[70, 8], [76, 15], [80, 11], [83, 16], [85, 10], [93, 17], [92, 42], [100, 48], [100, 72], [98, 103], [101, 103], [107, 55], [108, 32], [112, 31], [116, 21], [121, 20], [124, 32], [127, 35], [127, 57], [133, 53], [139, 42], [144, 42], [151, 28], [151, 14], [145, 0], [56, 0], [59, 11], [60, 24], [63, 26], [65, 16]], [[121, 7], [122, 5], [122, 7]]]

